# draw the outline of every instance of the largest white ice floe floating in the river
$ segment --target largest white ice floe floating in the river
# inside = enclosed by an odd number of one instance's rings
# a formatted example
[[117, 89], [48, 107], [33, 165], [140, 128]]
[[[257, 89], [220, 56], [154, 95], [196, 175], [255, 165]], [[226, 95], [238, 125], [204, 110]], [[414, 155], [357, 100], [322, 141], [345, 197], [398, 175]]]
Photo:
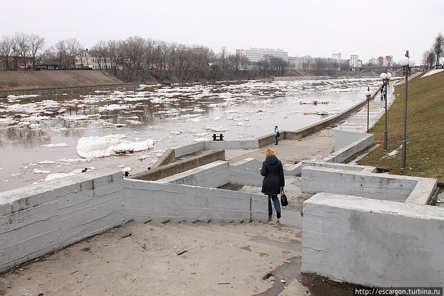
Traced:
[[106, 157], [119, 153], [143, 151], [154, 147], [154, 141], [125, 141], [125, 135], [82, 137], [77, 143], [77, 154], [84, 158]]

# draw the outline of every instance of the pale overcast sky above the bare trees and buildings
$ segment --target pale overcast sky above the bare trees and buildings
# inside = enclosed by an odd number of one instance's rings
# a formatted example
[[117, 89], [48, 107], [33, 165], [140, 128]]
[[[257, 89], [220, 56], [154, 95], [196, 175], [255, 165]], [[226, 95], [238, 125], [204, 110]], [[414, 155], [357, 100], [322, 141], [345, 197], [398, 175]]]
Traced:
[[[75, 37], [152, 37], [230, 52], [281, 48], [289, 56], [341, 52], [367, 62], [409, 50], [419, 61], [444, 33], [444, 0], [1, 0], [0, 36], [36, 33], [47, 45]], [[406, 21], [408, 20], [408, 21]]]

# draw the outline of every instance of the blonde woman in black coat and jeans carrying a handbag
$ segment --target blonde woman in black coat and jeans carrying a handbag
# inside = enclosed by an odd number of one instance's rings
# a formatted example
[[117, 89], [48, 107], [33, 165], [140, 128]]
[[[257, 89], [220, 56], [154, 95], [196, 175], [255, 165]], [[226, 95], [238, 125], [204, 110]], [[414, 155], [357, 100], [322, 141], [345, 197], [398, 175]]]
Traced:
[[273, 200], [276, 218], [279, 219], [281, 218], [281, 205], [277, 196], [281, 193], [281, 188], [285, 186], [284, 168], [273, 149], [265, 150], [265, 161], [262, 162], [262, 168], [259, 171], [263, 176], [261, 192], [268, 195], [268, 216], [273, 215], [271, 207], [271, 200]]

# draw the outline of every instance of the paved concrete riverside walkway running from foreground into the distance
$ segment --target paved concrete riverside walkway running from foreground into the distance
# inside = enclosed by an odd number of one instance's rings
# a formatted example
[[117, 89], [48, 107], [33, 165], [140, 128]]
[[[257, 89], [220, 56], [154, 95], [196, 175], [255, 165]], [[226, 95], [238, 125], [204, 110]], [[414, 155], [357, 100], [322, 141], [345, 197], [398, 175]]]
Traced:
[[[381, 106], [370, 101], [373, 122], [383, 115]], [[226, 150], [226, 159], [262, 161], [266, 148], [284, 165], [322, 159], [333, 152], [334, 129], [366, 128], [364, 110], [300, 140]], [[287, 183], [293, 205], [279, 222], [128, 222], [1, 274], [0, 295], [351, 295], [351, 285], [300, 275], [296, 205], [310, 195], [300, 194], [300, 178]]]

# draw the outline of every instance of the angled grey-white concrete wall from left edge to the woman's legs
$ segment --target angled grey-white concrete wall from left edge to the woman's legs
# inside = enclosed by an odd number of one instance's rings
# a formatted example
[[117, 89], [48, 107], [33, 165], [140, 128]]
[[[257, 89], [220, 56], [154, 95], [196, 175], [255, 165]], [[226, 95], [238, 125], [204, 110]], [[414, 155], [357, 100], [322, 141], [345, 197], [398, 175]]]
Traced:
[[267, 218], [262, 195], [96, 170], [0, 193], [0, 272], [130, 220]]

